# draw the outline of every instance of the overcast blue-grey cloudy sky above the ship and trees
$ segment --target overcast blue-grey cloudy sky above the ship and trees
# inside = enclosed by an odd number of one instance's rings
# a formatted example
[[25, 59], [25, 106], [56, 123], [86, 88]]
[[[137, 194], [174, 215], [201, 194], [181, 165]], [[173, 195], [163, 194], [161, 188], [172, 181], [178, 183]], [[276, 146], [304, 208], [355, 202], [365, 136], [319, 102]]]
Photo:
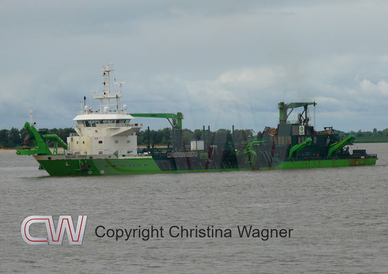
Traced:
[[318, 129], [388, 127], [388, 1], [0, 6], [0, 129], [31, 107], [38, 127], [73, 127], [110, 62], [130, 112], [183, 112], [190, 129], [276, 127], [280, 101], [316, 101]]

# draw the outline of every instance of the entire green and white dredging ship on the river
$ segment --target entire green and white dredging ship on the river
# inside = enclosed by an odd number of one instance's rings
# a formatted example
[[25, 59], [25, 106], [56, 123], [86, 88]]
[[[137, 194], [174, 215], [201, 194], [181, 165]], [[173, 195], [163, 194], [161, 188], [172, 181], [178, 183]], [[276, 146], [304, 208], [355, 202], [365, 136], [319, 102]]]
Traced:
[[[103, 90], [94, 92], [99, 109], [92, 110], [83, 97], [79, 114], [75, 116], [75, 133], [66, 142], [55, 134], [36, 129], [31, 118], [25, 123], [29, 140], [34, 145], [18, 149], [18, 155], [33, 155], [39, 169], [53, 176], [69, 175], [123, 175], [143, 173], [184, 173], [205, 171], [250, 171], [268, 169], [310, 169], [343, 166], [370, 166], [376, 164], [377, 155], [365, 149], [349, 151], [354, 136], [339, 137], [333, 127], [315, 131], [310, 125], [309, 106], [315, 102], [278, 104], [279, 124], [266, 127], [257, 136], [244, 136], [235, 142], [232, 138], [216, 140], [209, 129], [203, 128], [203, 140], [192, 140], [190, 147], [182, 138], [183, 114], [129, 113], [121, 105], [122, 85], [111, 90], [113, 64], [103, 66]], [[297, 121], [288, 121], [296, 108], [302, 110]], [[137, 132], [142, 124], [133, 123], [135, 117], [165, 118], [172, 126], [172, 146], [155, 149], [138, 147]], [[244, 134], [245, 135], [245, 134]], [[48, 142], [53, 142], [49, 149]], [[58, 150], [62, 147], [62, 150]]]

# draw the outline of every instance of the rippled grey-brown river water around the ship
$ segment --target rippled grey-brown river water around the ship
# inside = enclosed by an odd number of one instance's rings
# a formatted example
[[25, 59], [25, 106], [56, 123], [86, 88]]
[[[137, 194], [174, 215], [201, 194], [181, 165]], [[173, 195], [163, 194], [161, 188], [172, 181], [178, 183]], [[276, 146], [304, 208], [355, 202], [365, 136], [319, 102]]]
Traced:
[[[376, 166], [107, 177], [49, 177], [29, 156], [0, 153], [0, 272], [387, 273], [388, 144]], [[88, 215], [82, 245], [27, 245], [31, 215]], [[31, 235], [47, 237], [42, 226]], [[96, 227], [164, 227], [164, 238], [99, 238]], [[173, 238], [169, 227], [231, 229]], [[237, 226], [293, 229], [240, 238]], [[103, 229], [100, 227], [100, 236]]]

